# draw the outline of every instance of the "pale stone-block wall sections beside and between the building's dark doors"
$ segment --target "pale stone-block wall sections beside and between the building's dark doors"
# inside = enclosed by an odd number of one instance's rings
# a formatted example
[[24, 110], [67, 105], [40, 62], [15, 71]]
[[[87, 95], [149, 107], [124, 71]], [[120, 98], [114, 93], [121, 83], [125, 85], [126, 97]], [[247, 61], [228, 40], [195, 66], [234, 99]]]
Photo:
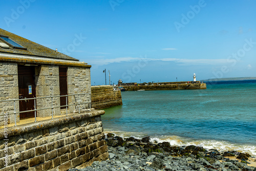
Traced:
[[[38, 65], [35, 67], [36, 97], [59, 96], [59, 66]], [[90, 67], [70, 66], [67, 71], [68, 94], [91, 93]], [[17, 63], [0, 62], [0, 100], [18, 99], [18, 67]], [[68, 103], [90, 101], [90, 95], [68, 96]], [[59, 97], [53, 97], [53, 106], [60, 104]], [[36, 100], [36, 109], [51, 108], [51, 98]], [[15, 102], [16, 112], [19, 111], [19, 103]], [[81, 110], [89, 109], [89, 104], [81, 104]], [[68, 107], [68, 113], [78, 111], [78, 105]], [[4, 114], [8, 113], [8, 123], [14, 123], [14, 101], [0, 103], [0, 125], [4, 125]], [[49, 117], [51, 109], [37, 111], [37, 117]], [[61, 115], [60, 108], [53, 109], [53, 115]], [[66, 110], [65, 110], [66, 114]], [[19, 114], [16, 114], [19, 122]]]

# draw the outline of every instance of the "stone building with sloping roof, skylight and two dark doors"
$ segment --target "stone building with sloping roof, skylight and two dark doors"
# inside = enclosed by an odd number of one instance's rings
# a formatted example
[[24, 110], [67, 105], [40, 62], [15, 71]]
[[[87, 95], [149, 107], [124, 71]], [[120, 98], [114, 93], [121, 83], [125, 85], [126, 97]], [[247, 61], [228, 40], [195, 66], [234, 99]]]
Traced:
[[[91, 93], [91, 66], [78, 59], [59, 53], [0, 29], [0, 101]], [[68, 96], [68, 104], [90, 100], [90, 95]], [[52, 104], [53, 103], [53, 104]], [[0, 102], [0, 125], [8, 113], [8, 123], [15, 120], [16, 112], [51, 106], [66, 105], [66, 97], [41, 98], [34, 100]], [[88, 109], [83, 104], [81, 109]], [[68, 113], [77, 111], [77, 105], [68, 106]], [[48, 117], [66, 113], [66, 107], [36, 112], [37, 117]], [[35, 112], [17, 113], [19, 119], [35, 117]]]

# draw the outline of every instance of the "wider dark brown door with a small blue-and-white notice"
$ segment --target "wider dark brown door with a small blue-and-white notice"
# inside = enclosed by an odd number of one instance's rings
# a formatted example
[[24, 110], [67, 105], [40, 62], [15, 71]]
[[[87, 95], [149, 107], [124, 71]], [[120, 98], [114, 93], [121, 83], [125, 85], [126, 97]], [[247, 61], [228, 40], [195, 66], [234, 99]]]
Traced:
[[[19, 66], [18, 65], [18, 94], [19, 99], [34, 98], [36, 97], [35, 86], [35, 67], [33, 66]], [[19, 112], [29, 111], [35, 109], [34, 100], [20, 100]], [[19, 118], [32, 118], [35, 112], [20, 113]]]

